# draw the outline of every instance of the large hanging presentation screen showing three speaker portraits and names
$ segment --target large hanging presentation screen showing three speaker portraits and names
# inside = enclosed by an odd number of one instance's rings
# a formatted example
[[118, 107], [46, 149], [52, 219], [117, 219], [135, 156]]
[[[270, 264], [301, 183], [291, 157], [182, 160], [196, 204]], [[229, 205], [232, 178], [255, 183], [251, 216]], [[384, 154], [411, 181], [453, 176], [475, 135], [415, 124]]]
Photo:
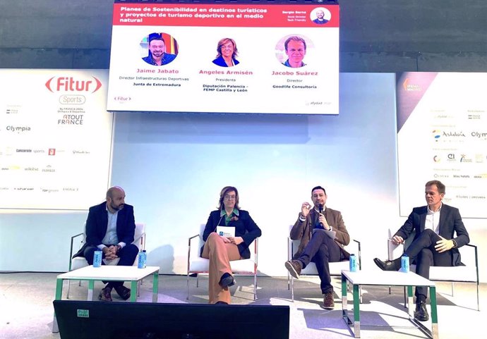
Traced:
[[115, 1], [109, 111], [338, 114], [339, 5]]

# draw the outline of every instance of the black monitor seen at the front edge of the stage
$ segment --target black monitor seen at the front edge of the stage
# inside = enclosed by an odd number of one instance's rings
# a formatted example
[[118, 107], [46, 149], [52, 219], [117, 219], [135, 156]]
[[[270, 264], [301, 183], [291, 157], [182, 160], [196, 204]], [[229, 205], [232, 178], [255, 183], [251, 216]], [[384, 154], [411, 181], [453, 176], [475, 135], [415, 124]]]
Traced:
[[289, 307], [55, 300], [61, 339], [288, 339]]

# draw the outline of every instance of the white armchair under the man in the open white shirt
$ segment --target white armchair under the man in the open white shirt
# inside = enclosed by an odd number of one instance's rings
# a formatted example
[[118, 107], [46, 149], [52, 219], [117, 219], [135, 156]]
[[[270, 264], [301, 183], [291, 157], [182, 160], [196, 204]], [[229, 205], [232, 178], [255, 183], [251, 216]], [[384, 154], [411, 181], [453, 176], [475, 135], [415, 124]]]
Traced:
[[[409, 235], [409, 238], [404, 244], [395, 245], [391, 238], [394, 233], [389, 230], [389, 237], [387, 240], [387, 254], [388, 259], [396, 259], [401, 257], [402, 253], [409, 247], [414, 239], [414, 233]], [[431, 266], [430, 278], [431, 281], [447, 281], [451, 283], [453, 297], [455, 283], [475, 283], [477, 288], [477, 310], [480, 311], [479, 306], [479, 257], [477, 254], [476, 245], [464, 245], [459, 247], [459, 252], [462, 256], [462, 263], [465, 266]], [[410, 270], [415, 272], [416, 265], [410, 266]]]

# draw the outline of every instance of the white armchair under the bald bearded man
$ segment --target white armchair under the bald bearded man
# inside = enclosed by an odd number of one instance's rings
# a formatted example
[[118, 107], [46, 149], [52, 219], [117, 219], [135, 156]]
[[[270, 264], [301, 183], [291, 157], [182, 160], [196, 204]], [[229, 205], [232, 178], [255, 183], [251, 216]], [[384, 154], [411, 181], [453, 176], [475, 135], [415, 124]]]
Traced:
[[[73, 255], [76, 253], [76, 252], [73, 252], [73, 247], [75, 247], [75, 240], [80, 239], [80, 242], [78, 243], [78, 249], [83, 247], [83, 245], [86, 242], [85, 228], [86, 228], [86, 223], [83, 224], [83, 233], [78, 233], [78, 234], [73, 235], [71, 237], [71, 249], [69, 252], [69, 271], [73, 271], [75, 269], [81, 269], [82, 267], [88, 266], [88, 261], [86, 261], [85, 257], [73, 258]], [[81, 238], [81, 237], [83, 237], [83, 238]], [[133, 245], [136, 245], [138, 247], [139, 251], [145, 249], [145, 223], [136, 223], [136, 231], [134, 233], [132, 243], [133, 243]], [[76, 249], [76, 251], [78, 251], [78, 249]], [[137, 261], [138, 261], [138, 257], [133, 262], [133, 266], [137, 266]], [[119, 262], [118, 258], [111, 260], [111, 261], [105, 261], [104, 260], [104, 264], [107, 264], [107, 265], [116, 265], [116, 264], [118, 264], [118, 262]], [[70, 282], [71, 281], [68, 281], [68, 292], [66, 294], [66, 298], [69, 297], [69, 288], [71, 286]], [[81, 281], [80, 281], [80, 284], [81, 284]]]

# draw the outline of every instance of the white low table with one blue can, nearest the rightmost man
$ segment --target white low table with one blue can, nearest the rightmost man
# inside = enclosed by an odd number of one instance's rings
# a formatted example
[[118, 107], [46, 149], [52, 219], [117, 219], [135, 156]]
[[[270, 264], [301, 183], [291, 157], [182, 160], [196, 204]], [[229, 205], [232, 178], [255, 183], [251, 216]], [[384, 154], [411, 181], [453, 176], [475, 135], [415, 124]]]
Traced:
[[[354, 319], [348, 316], [347, 310], [347, 282], [353, 285]], [[429, 281], [414, 272], [403, 273], [399, 271], [342, 271], [342, 316], [349, 326], [355, 338], [360, 338], [360, 294], [361, 285], [377, 286], [404, 286], [407, 288], [408, 295], [408, 315], [409, 321], [414, 323], [423, 333], [433, 339], [438, 339], [438, 313], [436, 310], [436, 288], [435, 283]], [[422, 323], [414, 319], [413, 311], [413, 287], [428, 286], [430, 289], [431, 300], [431, 330], [429, 331]], [[351, 328], [353, 325], [353, 329]]]

